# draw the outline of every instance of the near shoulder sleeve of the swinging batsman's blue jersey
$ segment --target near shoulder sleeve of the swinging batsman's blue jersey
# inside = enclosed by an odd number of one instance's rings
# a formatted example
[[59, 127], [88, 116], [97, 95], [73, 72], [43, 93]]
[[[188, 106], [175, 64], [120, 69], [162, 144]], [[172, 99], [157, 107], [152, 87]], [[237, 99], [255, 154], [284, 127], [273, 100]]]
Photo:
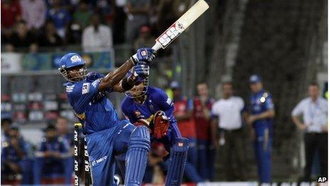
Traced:
[[70, 94], [72, 98], [73, 108], [76, 113], [83, 113], [86, 106], [92, 101], [92, 99], [99, 92], [97, 89], [100, 85], [100, 79], [93, 81], [92, 83], [76, 83], [73, 92]]

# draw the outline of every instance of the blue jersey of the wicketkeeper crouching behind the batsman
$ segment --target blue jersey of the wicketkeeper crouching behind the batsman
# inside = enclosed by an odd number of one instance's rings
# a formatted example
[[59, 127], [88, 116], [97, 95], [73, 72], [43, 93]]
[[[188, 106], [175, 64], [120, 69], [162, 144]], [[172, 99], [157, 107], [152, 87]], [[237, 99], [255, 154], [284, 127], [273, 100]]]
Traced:
[[122, 113], [129, 119], [131, 123], [137, 122], [139, 119], [147, 119], [159, 110], [164, 111], [169, 123], [171, 133], [177, 138], [181, 138], [179, 129], [177, 128], [176, 119], [174, 118], [174, 103], [169, 96], [160, 88], [149, 86], [147, 90], [147, 99], [142, 104], [134, 101], [134, 98], [126, 97], [122, 100]]

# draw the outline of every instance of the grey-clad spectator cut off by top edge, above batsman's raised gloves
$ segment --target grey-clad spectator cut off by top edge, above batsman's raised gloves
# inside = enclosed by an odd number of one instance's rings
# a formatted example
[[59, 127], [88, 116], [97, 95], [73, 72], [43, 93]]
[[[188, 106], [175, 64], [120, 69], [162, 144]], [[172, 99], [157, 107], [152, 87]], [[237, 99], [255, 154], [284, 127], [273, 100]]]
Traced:
[[133, 43], [139, 28], [149, 22], [150, 0], [127, 0], [126, 41]]

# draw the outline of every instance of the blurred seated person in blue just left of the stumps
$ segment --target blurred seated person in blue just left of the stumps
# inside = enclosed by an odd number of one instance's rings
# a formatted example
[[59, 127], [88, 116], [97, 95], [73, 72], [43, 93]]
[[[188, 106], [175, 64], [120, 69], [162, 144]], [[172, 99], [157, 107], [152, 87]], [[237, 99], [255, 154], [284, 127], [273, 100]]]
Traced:
[[[64, 180], [70, 180], [65, 177], [65, 172], [70, 171], [67, 170], [70, 168], [67, 166], [69, 145], [66, 140], [58, 137], [55, 126], [48, 125], [45, 133], [40, 148], [36, 152], [34, 183], [40, 184], [41, 180], [43, 184], [64, 183]], [[65, 183], [70, 184], [70, 182]]]

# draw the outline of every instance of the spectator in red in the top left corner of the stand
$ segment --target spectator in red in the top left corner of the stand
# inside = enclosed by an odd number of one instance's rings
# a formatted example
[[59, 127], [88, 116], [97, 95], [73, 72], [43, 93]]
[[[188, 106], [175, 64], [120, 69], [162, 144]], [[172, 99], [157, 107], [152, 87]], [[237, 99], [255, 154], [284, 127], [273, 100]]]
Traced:
[[11, 29], [21, 21], [21, 5], [18, 0], [1, 1], [1, 29]]

